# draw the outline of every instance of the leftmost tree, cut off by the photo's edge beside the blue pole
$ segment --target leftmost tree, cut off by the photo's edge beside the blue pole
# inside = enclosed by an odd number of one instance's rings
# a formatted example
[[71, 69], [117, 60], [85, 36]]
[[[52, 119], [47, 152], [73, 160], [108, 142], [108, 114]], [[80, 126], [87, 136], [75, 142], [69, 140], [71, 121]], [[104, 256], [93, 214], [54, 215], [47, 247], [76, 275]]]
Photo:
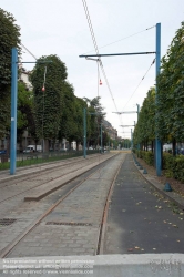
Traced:
[[10, 126], [11, 49], [20, 55], [20, 28], [13, 16], [0, 8], [0, 137]]

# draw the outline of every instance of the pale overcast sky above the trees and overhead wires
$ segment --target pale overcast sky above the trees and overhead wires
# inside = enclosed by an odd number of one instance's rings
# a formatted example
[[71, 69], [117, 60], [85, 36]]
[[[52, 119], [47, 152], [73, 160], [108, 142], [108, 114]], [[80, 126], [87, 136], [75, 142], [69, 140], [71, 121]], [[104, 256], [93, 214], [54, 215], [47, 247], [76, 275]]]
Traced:
[[[163, 57], [184, 21], [183, 0], [86, 0], [86, 3], [102, 54], [155, 51], [155, 25], [161, 23]], [[65, 63], [68, 81], [78, 98], [96, 98], [99, 90], [106, 120], [119, 136], [131, 137], [133, 126], [120, 125], [134, 125], [137, 114], [119, 116], [113, 112], [136, 111], [136, 104], [142, 105], [155, 84], [155, 64], [151, 66], [154, 54], [102, 58], [110, 93], [101, 71], [102, 85], [98, 85], [96, 62], [79, 58], [83, 53], [95, 54], [82, 0], [0, 0], [0, 8], [13, 14], [21, 28], [21, 42], [31, 53], [37, 58], [57, 54]], [[22, 61], [34, 59], [23, 50]], [[24, 68], [31, 70], [33, 64]]]

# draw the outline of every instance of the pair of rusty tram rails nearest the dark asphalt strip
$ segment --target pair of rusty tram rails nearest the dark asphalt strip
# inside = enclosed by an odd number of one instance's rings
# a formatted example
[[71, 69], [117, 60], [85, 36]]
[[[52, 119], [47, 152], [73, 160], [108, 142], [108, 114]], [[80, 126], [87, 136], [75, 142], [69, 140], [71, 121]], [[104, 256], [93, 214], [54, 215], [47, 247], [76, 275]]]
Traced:
[[[108, 163], [109, 161], [105, 161], [105, 162]], [[105, 162], [103, 162], [103, 164], [96, 171], [94, 171], [89, 176], [84, 177], [80, 183], [78, 183], [74, 187], [72, 187], [59, 201], [57, 201], [54, 204], [52, 204], [41, 216], [39, 216], [27, 229], [24, 229], [24, 232], [22, 232], [11, 244], [9, 244], [0, 253], [0, 257], [1, 258], [9, 257], [10, 253], [12, 253], [12, 250], [14, 248], [17, 248], [17, 246], [19, 246], [19, 244], [27, 236], [29, 236], [29, 234], [31, 234], [31, 232], [33, 232], [35, 229], [35, 227], [39, 226], [43, 222], [43, 219], [52, 213], [52, 211], [54, 211], [60, 204], [62, 204], [64, 202], [64, 199], [67, 199], [70, 195], [72, 195], [72, 193], [74, 193], [74, 191], [76, 191], [76, 188], [79, 188], [84, 182], [88, 182], [88, 181], [90, 181], [92, 178], [95, 178], [95, 175], [98, 173], [100, 173], [100, 175], [101, 175], [101, 172], [102, 172], [102, 170], [104, 168], [104, 166], [106, 164]], [[103, 242], [104, 242], [105, 224], [106, 224], [106, 216], [108, 216], [108, 209], [109, 209], [109, 201], [111, 198], [113, 186], [114, 186], [116, 176], [119, 174], [119, 171], [120, 171], [123, 162], [124, 162], [124, 160], [120, 163], [117, 170], [113, 174], [113, 178], [111, 181], [111, 185], [109, 187], [109, 192], [108, 192], [106, 199], [105, 199], [105, 203], [104, 203], [105, 205], [103, 206], [103, 209], [102, 209], [103, 212], [102, 212], [101, 223], [99, 224], [100, 227], [99, 227], [99, 232], [98, 232], [99, 233], [99, 238], [98, 238], [96, 245], [95, 245], [95, 248], [96, 248], [95, 249], [95, 255], [103, 253]], [[106, 181], [106, 178], [103, 178], [103, 176], [101, 176], [101, 181]], [[86, 225], [88, 225], [88, 223], [86, 223]]]

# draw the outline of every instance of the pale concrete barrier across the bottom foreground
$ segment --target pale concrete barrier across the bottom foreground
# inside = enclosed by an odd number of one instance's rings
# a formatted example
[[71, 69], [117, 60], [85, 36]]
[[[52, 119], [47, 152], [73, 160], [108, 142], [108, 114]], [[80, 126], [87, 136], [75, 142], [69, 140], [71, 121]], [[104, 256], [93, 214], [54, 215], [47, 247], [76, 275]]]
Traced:
[[[75, 274], [74, 274], [75, 271]], [[51, 256], [0, 259], [0, 276], [181, 277], [184, 254]]]

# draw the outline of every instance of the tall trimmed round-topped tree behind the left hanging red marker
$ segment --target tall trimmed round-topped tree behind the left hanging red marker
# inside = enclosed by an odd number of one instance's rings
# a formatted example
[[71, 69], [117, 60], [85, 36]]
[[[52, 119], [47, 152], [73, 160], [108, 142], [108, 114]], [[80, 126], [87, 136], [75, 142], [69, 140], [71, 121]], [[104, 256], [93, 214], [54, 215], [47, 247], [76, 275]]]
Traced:
[[[44, 63], [45, 61], [52, 61]], [[42, 62], [42, 63], [41, 63]], [[45, 91], [42, 91], [47, 66]], [[55, 140], [61, 127], [65, 64], [57, 55], [41, 57], [31, 74], [35, 130], [39, 138]]]

